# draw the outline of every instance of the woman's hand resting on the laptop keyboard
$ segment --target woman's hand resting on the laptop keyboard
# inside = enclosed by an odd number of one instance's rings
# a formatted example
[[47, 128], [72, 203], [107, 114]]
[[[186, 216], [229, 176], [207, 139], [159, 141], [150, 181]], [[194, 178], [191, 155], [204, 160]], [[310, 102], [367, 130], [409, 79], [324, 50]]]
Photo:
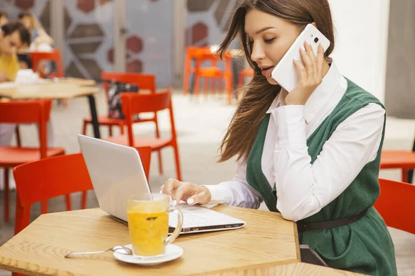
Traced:
[[160, 187], [160, 193], [169, 195], [174, 199], [174, 206], [181, 200], [187, 201], [187, 204], [208, 204], [212, 195], [210, 190], [205, 186], [199, 186], [190, 182], [181, 182], [177, 179], [169, 178], [165, 184]]

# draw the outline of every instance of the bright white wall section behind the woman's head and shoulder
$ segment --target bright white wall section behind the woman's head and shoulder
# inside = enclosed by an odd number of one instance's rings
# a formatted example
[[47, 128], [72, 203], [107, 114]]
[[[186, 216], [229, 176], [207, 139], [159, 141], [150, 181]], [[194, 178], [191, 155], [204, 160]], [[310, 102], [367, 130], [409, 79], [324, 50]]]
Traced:
[[329, 0], [336, 30], [336, 65], [347, 77], [385, 102], [390, 0]]

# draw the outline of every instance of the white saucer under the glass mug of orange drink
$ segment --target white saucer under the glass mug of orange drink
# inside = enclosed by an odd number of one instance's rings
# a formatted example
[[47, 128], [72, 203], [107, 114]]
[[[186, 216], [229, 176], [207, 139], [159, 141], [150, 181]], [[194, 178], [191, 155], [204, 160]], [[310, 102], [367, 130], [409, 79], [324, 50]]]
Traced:
[[[127, 244], [125, 247], [130, 248], [133, 250], [133, 246], [131, 244]], [[140, 264], [142, 266], [155, 266], [156, 264], [162, 264], [164, 262], [169, 262], [174, 259], [177, 259], [183, 255], [183, 248], [180, 246], [176, 246], [174, 244], [169, 244], [166, 246], [166, 251], [164, 255], [160, 257], [134, 257], [133, 255], [124, 255], [120, 253], [114, 252], [114, 257], [121, 262], [126, 262], [130, 264]]]

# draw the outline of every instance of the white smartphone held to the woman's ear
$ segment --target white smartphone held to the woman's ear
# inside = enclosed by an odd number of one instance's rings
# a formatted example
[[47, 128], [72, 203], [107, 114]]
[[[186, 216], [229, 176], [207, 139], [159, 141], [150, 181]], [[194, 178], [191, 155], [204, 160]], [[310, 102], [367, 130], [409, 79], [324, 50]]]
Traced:
[[304, 49], [304, 41], [307, 41], [311, 45], [316, 57], [319, 43], [322, 43], [324, 52], [330, 46], [329, 39], [324, 37], [320, 30], [315, 28], [313, 24], [307, 24], [306, 28], [295, 39], [293, 45], [291, 45], [281, 61], [275, 66], [273, 72], [271, 72], [271, 78], [277, 81], [279, 86], [287, 90], [287, 92], [291, 92], [297, 86], [298, 74], [297, 70], [295, 70], [293, 60], [295, 58], [302, 61], [299, 49]]

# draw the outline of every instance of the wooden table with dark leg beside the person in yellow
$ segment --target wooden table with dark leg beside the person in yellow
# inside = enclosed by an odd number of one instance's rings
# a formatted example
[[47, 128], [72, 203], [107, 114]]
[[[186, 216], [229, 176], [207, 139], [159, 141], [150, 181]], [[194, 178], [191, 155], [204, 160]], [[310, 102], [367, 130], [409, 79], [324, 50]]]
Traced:
[[93, 87], [93, 79], [66, 78], [58, 81], [44, 80], [37, 84], [17, 85], [15, 83], [1, 83], [0, 96], [10, 99], [73, 99], [86, 96], [89, 100], [91, 119], [95, 138], [100, 138], [100, 124], [94, 94], [100, 88]]

